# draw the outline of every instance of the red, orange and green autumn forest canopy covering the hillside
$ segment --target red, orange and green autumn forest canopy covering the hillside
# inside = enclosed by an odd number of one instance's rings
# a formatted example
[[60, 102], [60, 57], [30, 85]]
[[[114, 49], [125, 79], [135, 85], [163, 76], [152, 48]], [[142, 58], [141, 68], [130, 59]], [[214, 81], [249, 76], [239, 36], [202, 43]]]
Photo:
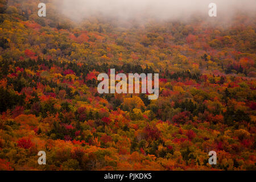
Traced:
[[[78, 17], [66, 2], [0, 0], [0, 170], [256, 170], [254, 12]], [[98, 93], [110, 69], [159, 73], [158, 99]]]

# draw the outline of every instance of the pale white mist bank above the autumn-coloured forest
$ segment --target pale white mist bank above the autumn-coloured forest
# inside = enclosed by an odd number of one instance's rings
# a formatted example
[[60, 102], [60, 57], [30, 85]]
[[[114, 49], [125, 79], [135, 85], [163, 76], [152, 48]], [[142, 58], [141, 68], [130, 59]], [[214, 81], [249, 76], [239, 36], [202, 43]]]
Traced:
[[[100, 13], [105, 17], [160, 19], [188, 18], [192, 14], [208, 16], [208, 5], [217, 5], [219, 17], [232, 16], [238, 10], [255, 15], [256, 0], [55, 0], [61, 13], [81, 20]], [[222, 18], [222, 17], [221, 17]]]

